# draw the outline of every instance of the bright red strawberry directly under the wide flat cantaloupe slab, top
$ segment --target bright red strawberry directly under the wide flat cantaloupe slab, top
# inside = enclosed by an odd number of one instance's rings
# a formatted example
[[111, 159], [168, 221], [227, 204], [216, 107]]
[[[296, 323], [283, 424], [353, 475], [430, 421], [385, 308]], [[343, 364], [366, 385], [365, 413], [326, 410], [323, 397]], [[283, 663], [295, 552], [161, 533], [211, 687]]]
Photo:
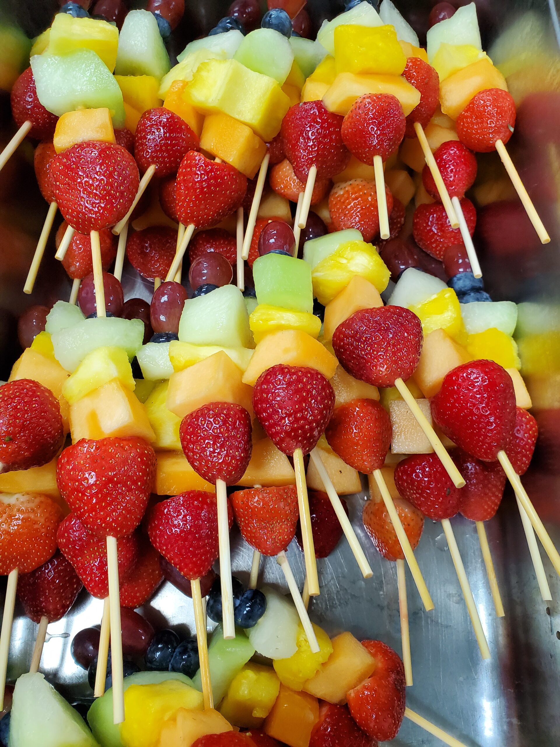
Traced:
[[383, 161], [396, 151], [405, 137], [405, 115], [391, 93], [365, 93], [352, 104], [342, 123], [342, 139], [349, 151], [364, 164], [373, 157]]

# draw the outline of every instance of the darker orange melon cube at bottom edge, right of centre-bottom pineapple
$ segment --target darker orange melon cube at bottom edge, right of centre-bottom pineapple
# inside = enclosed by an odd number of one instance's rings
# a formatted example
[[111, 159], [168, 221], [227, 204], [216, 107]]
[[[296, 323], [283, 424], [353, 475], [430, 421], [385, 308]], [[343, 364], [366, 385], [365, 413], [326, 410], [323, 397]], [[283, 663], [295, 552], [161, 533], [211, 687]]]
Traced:
[[294, 692], [280, 685], [273, 709], [264, 722], [269, 737], [290, 747], [308, 747], [311, 731], [319, 720], [319, 703], [307, 692]]

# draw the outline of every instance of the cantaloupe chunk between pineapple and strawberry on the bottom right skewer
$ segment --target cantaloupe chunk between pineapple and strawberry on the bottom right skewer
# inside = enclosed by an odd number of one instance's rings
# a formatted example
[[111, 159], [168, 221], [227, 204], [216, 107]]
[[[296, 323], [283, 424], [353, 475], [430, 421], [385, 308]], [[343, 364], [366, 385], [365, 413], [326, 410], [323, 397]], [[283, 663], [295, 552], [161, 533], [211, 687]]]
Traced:
[[332, 639], [332, 654], [303, 689], [329, 703], [346, 703], [346, 692], [367, 680], [376, 668], [373, 656], [352, 633]]

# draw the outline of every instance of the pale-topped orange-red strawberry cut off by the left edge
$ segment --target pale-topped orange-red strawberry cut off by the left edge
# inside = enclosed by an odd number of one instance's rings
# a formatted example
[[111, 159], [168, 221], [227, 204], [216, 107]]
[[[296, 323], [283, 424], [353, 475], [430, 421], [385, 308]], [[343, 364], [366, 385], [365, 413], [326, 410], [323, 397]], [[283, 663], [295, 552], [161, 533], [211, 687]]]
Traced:
[[57, 548], [60, 506], [40, 493], [0, 493], [0, 575], [31, 573]]

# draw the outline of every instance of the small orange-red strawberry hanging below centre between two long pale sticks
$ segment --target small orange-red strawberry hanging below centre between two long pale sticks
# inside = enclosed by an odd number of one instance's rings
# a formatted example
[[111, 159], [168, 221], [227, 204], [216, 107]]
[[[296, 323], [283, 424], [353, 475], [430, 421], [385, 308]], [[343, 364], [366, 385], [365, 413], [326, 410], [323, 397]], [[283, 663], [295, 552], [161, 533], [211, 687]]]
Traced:
[[293, 540], [299, 517], [295, 485], [238, 490], [230, 495], [243, 539], [263, 555], [278, 555]]

